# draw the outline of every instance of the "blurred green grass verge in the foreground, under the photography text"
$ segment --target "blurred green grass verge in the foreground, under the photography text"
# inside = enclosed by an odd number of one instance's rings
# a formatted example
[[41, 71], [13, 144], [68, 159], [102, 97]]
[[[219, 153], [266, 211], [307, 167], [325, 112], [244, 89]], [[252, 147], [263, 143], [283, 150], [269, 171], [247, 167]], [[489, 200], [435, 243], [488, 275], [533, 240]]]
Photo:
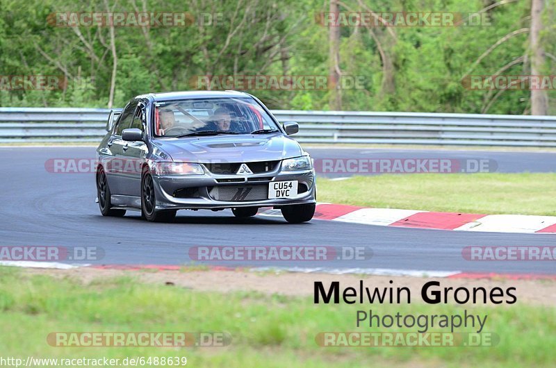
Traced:
[[[295, 285], [292, 285], [295, 287]], [[362, 306], [376, 313], [458, 313], [457, 306]], [[549, 367], [556, 346], [556, 310], [533, 306], [473, 308], [489, 315], [485, 331], [496, 347], [322, 348], [322, 331], [355, 327], [357, 306], [315, 305], [310, 298], [256, 292], [218, 294], [147, 285], [133, 278], [81, 285], [68, 278], [0, 268], [1, 356], [125, 358], [186, 356], [190, 367]], [[213, 331], [231, 345], [211, 348], [53, 347], [51, 332]], [[375, 331], [377, 331], [375, 329]], [[380, 330], [384, 331], [384, 329]], [[396, 331], [396, 330], [393, 330]]]

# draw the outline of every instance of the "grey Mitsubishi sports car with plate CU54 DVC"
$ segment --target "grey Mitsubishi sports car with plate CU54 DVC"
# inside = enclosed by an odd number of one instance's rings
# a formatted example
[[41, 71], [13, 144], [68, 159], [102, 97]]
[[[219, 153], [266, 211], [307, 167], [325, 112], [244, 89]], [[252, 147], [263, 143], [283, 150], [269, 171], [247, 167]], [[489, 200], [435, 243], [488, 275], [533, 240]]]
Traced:
[[97, 201], [104, 216], [140, 210], [172, 221], [177, 210], [261, 207], [288, 222], [313, 218], [315, 172], [309, 154], [256, 97], [243, 92], [144, 94], [113, 112], [97, 148]]

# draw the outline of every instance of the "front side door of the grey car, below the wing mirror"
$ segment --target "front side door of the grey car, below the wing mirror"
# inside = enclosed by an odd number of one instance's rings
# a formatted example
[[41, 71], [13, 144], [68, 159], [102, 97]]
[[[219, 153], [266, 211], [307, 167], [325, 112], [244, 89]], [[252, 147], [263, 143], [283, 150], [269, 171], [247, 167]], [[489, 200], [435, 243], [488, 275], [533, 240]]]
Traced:
[[[145, 103], [138, 103], [133, 112], [133, 119], [129, 128], [137, 128], [145, 136], [147, 124], [147, 113]], [[141, 194], [141, 165], [147, 156], [147, 144], [142, 141], [128, 142], [122, 141], [122, 162], [125, 163], [125, 170], [122, 174], [122, 194], [139, 197]]]

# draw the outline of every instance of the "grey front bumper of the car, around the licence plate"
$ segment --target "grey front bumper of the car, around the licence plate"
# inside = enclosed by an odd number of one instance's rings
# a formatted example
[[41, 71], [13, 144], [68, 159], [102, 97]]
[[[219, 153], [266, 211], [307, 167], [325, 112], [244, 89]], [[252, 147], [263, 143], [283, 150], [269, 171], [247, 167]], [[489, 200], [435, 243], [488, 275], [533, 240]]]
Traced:
[[[234, 174], [213, 174], [188, 176], [156, 176], [153, 175], [156, 191], [156, 209], [224, 209], [238, 207], [279, 207], [292, 204], [316, 203], [314, 169], [299, 172], [269, 172], [239, 176]], [[297, 181], [302, 192], [288, 199], [268, 199], [260, 196], [256, 199], [243, 201], [222, 200], [218, 190], [233, 190], [234, 187], [256, 188], [259, 193], [275, 181]], [[222, 190], [221, 188], [224, 188]], [[182, 195], [181, 193], [186, 193]], [[254, 191], [255, 192], [255, 191]], [[268, 189], [267, 189], [268, 192]]]

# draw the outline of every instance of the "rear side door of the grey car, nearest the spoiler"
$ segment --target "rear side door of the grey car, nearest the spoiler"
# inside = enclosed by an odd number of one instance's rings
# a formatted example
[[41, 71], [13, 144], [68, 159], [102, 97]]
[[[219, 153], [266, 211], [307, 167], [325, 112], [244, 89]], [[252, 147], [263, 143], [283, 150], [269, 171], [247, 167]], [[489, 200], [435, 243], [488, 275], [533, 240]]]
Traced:
[[122, 160], [123, 148], [126, 144], [126, 142], [122, 140], [122, 131], [131, 126], [136, 108], [137, 101], [131, 101], [126, 108], [124, 108], [122, 115], [120, 115], [120, 118], [117, 120], [113, 135], [110, 140], [108, 140], [108, 148], [112, 151], [114, 156], [110, 167], [106, 170], [108, 185], [110, 185], [112, 194], [125, 194], [125, 172], [128, 168], [126, 167], [126, 162]]

